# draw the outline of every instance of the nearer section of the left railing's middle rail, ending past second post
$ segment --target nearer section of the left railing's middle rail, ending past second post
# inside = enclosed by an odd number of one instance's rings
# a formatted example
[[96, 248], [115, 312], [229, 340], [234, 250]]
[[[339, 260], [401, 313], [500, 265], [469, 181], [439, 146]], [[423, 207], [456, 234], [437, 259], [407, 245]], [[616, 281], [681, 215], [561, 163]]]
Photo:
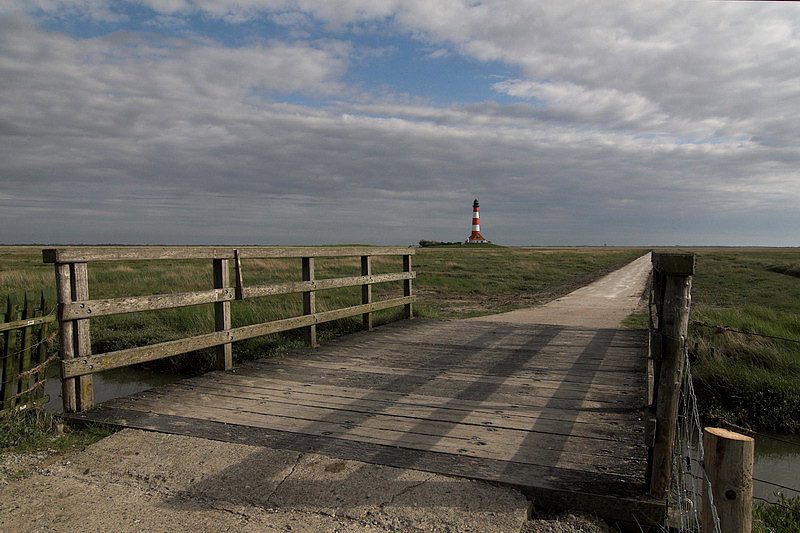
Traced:
[[59, 312], [63, 320], [77, 320], [96, 316], [229, 302], [233, 299], [235, 299], [234, 289], [231, 287], [224, 287], [207, 291], [69, 302], [59, 306]]

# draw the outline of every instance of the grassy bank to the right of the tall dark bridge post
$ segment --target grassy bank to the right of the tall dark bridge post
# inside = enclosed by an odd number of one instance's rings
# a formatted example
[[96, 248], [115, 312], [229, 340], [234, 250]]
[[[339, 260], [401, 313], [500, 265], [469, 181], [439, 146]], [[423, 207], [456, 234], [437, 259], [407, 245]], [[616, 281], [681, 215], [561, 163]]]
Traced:
[[701, 407], [738, 425], [800, 432], [800, 343], [769, 338], [800, 340], [800, 250], [694, 252], [691, 320], [728, 328], [690, 327]]

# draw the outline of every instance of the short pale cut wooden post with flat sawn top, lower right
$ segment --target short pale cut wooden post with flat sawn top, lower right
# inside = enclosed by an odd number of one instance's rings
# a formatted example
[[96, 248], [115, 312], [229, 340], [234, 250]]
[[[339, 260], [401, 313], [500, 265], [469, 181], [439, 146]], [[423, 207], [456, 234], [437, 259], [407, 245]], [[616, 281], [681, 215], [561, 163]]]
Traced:
[[[750, 533], [755, 441], [727, 429], [705, 428], [703, 449], [703, 465], [711, 483], [720, 531]], [[703, 483], [703, 531], [714, 531], [708, 496], [708, 483]]]

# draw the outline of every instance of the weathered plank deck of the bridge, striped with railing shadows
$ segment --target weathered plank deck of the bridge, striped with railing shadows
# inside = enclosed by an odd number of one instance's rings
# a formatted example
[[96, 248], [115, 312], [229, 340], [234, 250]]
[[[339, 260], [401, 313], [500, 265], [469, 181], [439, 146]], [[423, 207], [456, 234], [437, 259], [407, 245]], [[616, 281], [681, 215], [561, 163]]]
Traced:
[[658, 520], [646, 332], [403, 321], [72, 418], [500, 482], [536, 506]]

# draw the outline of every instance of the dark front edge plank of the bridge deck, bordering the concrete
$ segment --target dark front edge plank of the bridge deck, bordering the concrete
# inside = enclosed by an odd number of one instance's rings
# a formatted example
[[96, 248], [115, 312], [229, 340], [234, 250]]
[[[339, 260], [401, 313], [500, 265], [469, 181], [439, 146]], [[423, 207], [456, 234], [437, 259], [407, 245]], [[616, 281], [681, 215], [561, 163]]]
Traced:
[[164, 433], [225, 442], [319, 453], [341, 459], [415, 468], [445, 475], [503, 483], [519, 488], [532, 501], [561, 505], [563, 509], [596, 510], [607, 519], [661, 523], [665, 502], [647, 498], [640, 483], [626, 477], [575, 470], [509, 463], [485, 458], [346, 441], [328, 436], [303, 435], [237, 426], [208, 420], [101, 407], [71, 414], [73, 420], [91, 420]]

